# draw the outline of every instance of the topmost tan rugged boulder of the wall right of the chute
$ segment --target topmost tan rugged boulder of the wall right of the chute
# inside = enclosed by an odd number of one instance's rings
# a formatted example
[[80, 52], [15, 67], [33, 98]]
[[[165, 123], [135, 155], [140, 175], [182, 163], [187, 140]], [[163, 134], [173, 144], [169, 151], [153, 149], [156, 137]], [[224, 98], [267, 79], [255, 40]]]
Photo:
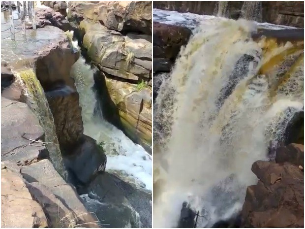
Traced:
[[68, 19], [88, 19], [122, 33], [152, 33], [151, 1], [69, 1]]

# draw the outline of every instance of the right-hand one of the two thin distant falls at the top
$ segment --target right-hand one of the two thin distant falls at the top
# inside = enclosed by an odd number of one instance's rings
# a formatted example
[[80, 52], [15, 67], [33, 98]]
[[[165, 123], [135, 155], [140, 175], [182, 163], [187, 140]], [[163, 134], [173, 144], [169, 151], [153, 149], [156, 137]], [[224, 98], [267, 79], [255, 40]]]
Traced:
[[243, 18], [251, 21], [262, 22], [262, 10], [261, 1], [244, 1], [242, 6]]

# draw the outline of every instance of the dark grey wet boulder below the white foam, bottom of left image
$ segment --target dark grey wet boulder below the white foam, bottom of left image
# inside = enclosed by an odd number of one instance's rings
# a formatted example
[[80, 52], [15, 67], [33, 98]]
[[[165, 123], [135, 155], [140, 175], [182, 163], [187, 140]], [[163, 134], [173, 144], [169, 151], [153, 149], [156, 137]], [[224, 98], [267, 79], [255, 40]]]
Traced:
[[152, 199], [107, 172], [99, 174], [82, 195], [86, 207], [105, 228], [151, 228]]

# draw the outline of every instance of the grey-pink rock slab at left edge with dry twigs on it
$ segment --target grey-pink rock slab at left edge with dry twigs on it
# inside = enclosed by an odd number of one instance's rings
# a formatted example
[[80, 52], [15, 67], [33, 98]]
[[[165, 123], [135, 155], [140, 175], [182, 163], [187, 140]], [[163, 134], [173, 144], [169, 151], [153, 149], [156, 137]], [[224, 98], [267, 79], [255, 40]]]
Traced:
[[[26, 134], [25, 134], [26, 133]], [[44, 131], [27, 104], [1, 97], [1, 160], [30, 162], [38, 158], [44, 146], [29, 139], [42, 139]]]

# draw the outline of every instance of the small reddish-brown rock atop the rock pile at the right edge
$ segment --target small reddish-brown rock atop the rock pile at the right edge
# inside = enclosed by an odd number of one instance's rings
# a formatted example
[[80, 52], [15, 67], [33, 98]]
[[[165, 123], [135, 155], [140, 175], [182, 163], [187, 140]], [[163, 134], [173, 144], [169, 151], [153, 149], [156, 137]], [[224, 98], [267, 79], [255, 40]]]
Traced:
[[304, 145], [300, 144], [289, 144], [276, 149], [275, 154], [276, 163], [289, 162], [297, 166], [301, 165], [304, 167]]

